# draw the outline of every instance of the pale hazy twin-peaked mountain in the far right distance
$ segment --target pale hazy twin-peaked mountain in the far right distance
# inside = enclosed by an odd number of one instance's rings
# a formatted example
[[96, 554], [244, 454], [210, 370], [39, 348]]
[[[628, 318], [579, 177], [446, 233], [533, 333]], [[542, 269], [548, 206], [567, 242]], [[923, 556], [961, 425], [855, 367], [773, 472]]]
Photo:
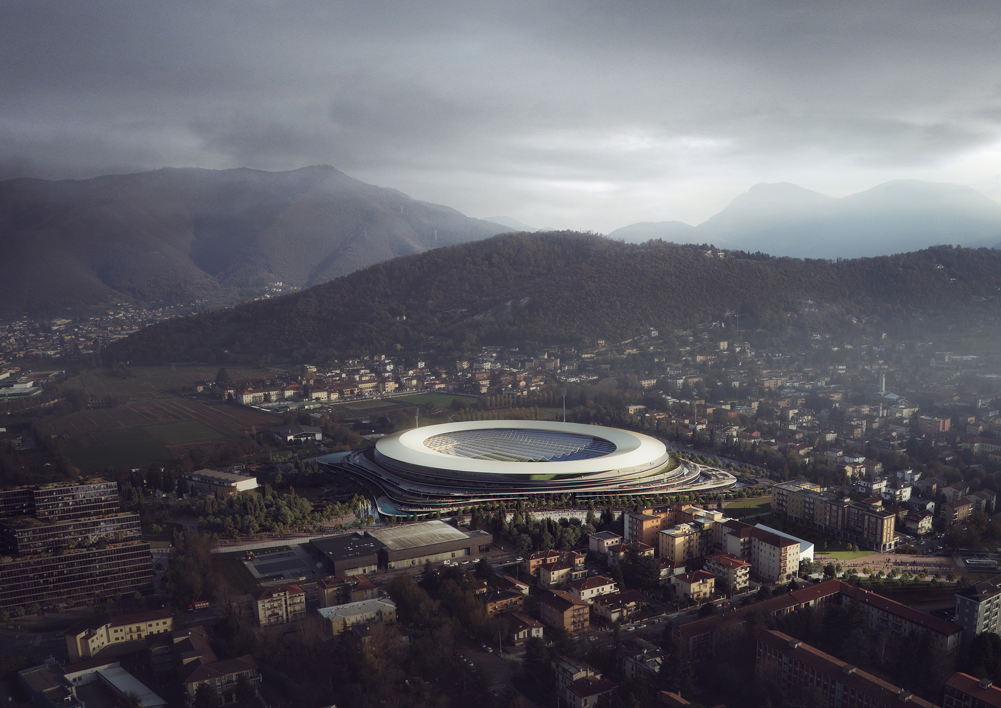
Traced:
[[995, 246], [1001, 204], [972, 187], [886, 182], [840, 199], [761, 183], [699, 224], [727, 247], [810, 258], [859, 257], [940, 243]]

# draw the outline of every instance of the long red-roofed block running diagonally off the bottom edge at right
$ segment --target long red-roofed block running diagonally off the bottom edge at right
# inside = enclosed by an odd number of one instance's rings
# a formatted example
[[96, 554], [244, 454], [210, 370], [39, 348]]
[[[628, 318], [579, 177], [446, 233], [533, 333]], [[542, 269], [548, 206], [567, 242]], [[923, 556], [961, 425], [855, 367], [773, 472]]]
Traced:
[[755, 670], [763, 684], [774, 684], [783, 694], [801, 696], [818, 689], [831, 708], [891, 708], [904, 701], [920, 708], [934, 708], [934, 704], [909, 691], [777, 630], [758, 636]]

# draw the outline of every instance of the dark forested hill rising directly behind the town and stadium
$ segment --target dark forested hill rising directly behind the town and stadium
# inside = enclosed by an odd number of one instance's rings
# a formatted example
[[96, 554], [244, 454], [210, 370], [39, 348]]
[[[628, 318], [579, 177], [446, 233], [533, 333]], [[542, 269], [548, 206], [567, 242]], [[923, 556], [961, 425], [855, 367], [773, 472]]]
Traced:
[[620, 341], [728, 312], [747, 314], [742, 326], [773, 330], [810, 316], [844, 324], [849, 313], [878, 313], [891, 326], [915, 310], [957, 319], [972, 307], [996, 310], [999, 286], [1001, 251], [992, 249], [939, 246], [832, 262], [718, 257], [699, 246], [575, 232], [504, 234], [394, 258], [292, 295], [167, 320], [110, 353], [308, 362], [400, 348]]

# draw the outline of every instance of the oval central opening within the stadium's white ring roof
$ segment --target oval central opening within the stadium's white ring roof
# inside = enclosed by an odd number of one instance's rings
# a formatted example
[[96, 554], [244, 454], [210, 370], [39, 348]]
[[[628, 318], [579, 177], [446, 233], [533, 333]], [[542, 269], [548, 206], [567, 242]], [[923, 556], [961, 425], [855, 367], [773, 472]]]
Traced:
[[431, 436], [424, 445], [443, 455], [496, 462], [572, 462], [616, 451], [602, 438], [561, 431], [479, 429]]

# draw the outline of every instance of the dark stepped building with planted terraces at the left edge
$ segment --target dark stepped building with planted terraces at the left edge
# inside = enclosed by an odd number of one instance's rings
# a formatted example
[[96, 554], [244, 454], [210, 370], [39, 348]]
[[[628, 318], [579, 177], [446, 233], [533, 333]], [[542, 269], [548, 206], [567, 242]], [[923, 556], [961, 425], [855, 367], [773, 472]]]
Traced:
[[117, 483], [91, 480], [0, 491], [0, 610], [104, 601], [152, 588], [149, 544], [118, 513]]

